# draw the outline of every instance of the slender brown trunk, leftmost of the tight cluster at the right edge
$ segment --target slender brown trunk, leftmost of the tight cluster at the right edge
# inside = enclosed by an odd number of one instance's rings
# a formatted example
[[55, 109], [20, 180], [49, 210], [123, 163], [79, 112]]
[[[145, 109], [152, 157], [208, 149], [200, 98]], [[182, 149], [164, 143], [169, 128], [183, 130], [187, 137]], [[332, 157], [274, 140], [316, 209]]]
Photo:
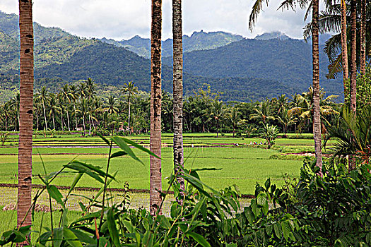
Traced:
[[344, 98], [348, 97], [346, 81], [348, 80], [348, 40], [346, 37], [346, 1], [341, 0], [341, 57], [343, 62]]

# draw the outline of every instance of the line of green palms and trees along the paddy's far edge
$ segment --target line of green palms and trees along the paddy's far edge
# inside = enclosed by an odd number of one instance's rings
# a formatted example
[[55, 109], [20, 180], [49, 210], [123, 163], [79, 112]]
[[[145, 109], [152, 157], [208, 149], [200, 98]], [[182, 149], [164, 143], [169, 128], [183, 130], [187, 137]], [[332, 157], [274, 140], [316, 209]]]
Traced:
[[[138, 90], [135, 83], [124, 83], [122, 95], [98, 96], [95, 83], [88, 78], [77, 84], [65, 84], [59, 92], [46, 87], [33, 97], [33, 129], [35, 131], [81, 131], [82, 135], [149, 133], [151, 95]], [[278, 126], [286, 133], [312, 133], [313, 92], [281, 95], [261, 102], [223, 102], [220, 93], [209, 85], [184, 98], [182, 127], [187, 133], [232, 133], [233, 136], [256, 136], [264, 124]], [[338, 114], [335, 95], [326, 97], [321, 90], [321, 114], [324, 126]], [[1, 131], [19, 131], [20, 95], [0, 105]], [[162, 130], [172, 133], [173, 95], [162, 92]], [[325, 124], [326, 123], [326, 124]]]

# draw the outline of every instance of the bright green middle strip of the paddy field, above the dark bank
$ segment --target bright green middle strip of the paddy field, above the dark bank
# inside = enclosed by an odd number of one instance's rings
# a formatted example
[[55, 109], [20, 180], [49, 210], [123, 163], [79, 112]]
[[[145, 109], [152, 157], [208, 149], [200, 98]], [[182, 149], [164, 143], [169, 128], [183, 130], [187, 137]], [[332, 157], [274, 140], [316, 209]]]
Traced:
[[[64, 151], [62, 149], [55, 149]], [[45, 152], [54, 152], [53, 149], [45, 149]], [[71, 148], [69, 152], [82, 152], [81, 149]], [[90, 148], [88, 149], [90, 151]], [[45, 162], [47, 171], [58, 171], [64, 164], [72, 159], [88, 162], [100, 167], [105, 167], [107, 155], [105, 150], [93, 150], [102, 152], [101, 155], [82, 154], [82, 155], [44, 155], [42, 160]], [[119, 157], [112, 159], [110, 171], [117, 171], [117, 183], [112, 186], [122, 188], [125, 181], [129, 181], [131, 188], [149, 188], [149, 157], [143, 152], [134, 150], [143, 160], [143, 164], [134, 161], [129, 157]], [[41, 152], [42, 153], [42, 152]], [[283, 183], [282, 175], [285, 173], [298, 176], [300, 171], [300, 160], [278, 160], [270, 159], [271, 155], [279, 154], [276, 150], [264, 150], [260, 148], [225, 148], [225, 147], [194, 147], [184, 148], [186, 162], [184, 166], [190, 168], [216, 168], [218, 171], [200, 171], [202, 181], [213, 188], [225, 188], [233, 184], [240, 188], [241, 193], [253, 193], [256, 182], [264, 183], [269, 177], [274, 183]], [[16, 155], [2, 155], [0, 160], [0, 181], [1, 183], [16, 183], [17, 173]], [[163, 148], [163, 188], [166, 188], [166, 177], [172, 172], [172, 148]], [[33, 156], [33, 183], [41, 183], [37, 174], [44, 174], [42, 162], [38, 155]], [[74, 174], [63, 174], [56, 183], [61, 186], [69, 186], [73, 181]], [[78, 186], [99, 187], [97, 181], [92, 181], [85, 176], [81, 179]]]

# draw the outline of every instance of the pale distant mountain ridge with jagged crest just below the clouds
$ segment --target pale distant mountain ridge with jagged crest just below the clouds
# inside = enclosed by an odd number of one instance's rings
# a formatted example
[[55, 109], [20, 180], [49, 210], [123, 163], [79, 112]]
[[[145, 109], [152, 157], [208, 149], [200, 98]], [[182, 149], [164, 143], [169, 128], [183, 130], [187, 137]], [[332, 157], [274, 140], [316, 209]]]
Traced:
[[[205, 49], [216, 49], [223, 47], [226, 44], [242, 40], [241, 35], [232, 35], [228, 32], [194, 32], [191, 36], [183, 35], [183, 51], [192, 52]], [[131, 52], [139, 54], [149, 59], [151, 55], [151, 40], [139, 37], [138, 35], [132, 37], [130, 40], [107, 40], [101, 39], [102, 42], [114, 44], [117, 47], [125, 47]], [[172, 56], [172, 39], [167, 39], [162, 42], [162, 55]]]

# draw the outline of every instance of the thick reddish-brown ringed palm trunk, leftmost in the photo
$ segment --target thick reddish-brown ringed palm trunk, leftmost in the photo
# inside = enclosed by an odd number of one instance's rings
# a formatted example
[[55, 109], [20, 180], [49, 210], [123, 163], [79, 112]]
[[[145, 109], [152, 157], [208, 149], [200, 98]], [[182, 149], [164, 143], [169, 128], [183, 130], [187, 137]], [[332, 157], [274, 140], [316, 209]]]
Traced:
[[20, 133], [18, 147], [17, 225], [31, 224], [33, 152], [33, 11], [31, 0], [19, 1]]

